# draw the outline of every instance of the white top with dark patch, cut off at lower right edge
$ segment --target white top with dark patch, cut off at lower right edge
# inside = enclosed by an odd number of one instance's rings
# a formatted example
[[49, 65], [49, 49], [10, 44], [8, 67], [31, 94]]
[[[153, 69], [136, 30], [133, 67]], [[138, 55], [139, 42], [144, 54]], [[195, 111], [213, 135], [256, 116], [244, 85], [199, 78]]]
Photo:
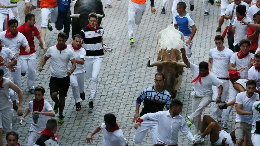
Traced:
[[251, 133], [260, 134], [260, 101], [255, 101], [252, 106], [253, 111], [253, 126]]

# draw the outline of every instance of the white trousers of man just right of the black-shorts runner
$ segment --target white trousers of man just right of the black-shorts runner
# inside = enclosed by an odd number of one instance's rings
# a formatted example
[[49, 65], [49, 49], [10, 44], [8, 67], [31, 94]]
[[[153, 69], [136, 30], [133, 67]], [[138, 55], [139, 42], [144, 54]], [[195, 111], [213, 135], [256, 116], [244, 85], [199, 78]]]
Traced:
[[84, 92], [84, 78], [85, 78], [85, 73], [78, 73], [78, 74], [72, 74], [69, 76], [70, 80], [70, 86], [72, 88], [72, 94], [75, 100], [75, 103], [78, 103], [82, 101], [80, 98], [80, 93]]

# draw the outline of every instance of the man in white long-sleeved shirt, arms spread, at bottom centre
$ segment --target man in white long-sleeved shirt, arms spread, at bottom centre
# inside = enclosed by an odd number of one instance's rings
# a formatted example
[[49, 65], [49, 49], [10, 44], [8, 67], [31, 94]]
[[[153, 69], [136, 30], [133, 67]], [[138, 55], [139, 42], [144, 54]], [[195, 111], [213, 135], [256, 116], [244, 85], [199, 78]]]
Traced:
[[[184, 49], [185, 50], [185, 49]], [[195, 142], [190, 129], [188, 128], [185, 119], [180, 115], [183, 103], [178, 99], [173, 99], [170, 104], [170, 109], [167, 111], [158, 111], [156, 113], [147, 113], [140, 117], [135, 129], [141, 126], [145, 120], [157, 121], [157, 142], [165, 145], [178, 145], [178, 132], [181, 130], [183, 135], [192, 143]]]

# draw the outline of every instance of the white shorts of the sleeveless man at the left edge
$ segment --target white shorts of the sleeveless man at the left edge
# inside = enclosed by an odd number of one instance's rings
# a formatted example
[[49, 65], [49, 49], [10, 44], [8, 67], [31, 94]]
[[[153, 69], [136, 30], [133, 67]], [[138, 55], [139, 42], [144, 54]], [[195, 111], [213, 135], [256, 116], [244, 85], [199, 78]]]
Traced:
[[6, 132], [11, 131], [12, 117], [13, 117], [12, 106], [0, 110], [0, 129], [3, 129]]

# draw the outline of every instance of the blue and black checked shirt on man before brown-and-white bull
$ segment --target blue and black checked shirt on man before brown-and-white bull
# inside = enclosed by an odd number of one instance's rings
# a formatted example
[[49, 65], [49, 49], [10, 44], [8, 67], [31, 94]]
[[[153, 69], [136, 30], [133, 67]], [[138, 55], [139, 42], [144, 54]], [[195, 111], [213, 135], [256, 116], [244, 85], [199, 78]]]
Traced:
[[143, 102], [144, 107], [140, 116], [143, 116], [147, 113], [163, 111], [164, 105], [166, 105], [167, 110], [170, 109], [171, 95], [164, 89], [161, 92], [156, 92], [154, 87], [148, 87], [136, 100], [136, 104], [141, 105], [141, 102]]

